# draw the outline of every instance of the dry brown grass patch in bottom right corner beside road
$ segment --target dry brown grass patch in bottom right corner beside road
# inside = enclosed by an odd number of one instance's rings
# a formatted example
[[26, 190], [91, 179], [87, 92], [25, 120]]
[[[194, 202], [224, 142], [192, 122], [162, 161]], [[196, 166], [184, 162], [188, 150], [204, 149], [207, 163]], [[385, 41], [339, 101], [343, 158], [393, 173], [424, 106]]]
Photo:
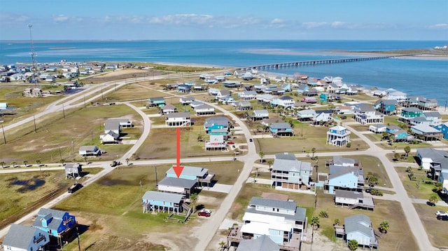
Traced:
[[440, 205], [430, 207], [426, 204], [414, 204], [414, 208], [417, 211], [421, 222], [423, 223], [431, 244], [440, 249], [448, 249], [448, 222], [442, 222], [440, 220], [437, 220], [435, 217], [435, 211], [447, 211], [448, 208], [442, 207]]

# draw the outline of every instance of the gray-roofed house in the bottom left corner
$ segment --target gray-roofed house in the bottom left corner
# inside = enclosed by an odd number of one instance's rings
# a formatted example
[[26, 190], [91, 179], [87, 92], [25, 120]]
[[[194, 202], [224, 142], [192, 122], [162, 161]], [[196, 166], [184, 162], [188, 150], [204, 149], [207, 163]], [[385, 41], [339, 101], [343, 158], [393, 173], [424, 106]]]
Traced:
[[46, 250], [50, 235], [32, 226], [11, 224], [3, 239], [3, 250]]

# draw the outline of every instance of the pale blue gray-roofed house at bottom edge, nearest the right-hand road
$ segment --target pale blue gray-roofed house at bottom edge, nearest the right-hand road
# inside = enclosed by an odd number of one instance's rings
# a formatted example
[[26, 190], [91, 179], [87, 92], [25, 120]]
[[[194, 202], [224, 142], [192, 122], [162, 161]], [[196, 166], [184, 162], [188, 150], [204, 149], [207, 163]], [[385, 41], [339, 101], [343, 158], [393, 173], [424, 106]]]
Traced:
[[362, 247], [370, 247], [370, 249], [378, 247], [379, 243], [374, 234], [372, 222], [365, 215], [345, 217], [344, 231], [347, 244], [350, 240], [356, 240]]

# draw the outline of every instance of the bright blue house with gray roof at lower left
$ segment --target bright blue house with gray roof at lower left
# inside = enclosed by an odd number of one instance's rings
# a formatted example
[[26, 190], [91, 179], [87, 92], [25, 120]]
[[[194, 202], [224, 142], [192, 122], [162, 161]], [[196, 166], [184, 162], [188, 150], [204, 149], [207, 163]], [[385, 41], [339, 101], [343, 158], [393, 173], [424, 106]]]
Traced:
[[50, 236], [62, 237], [64, 233], [76, 226], [76, 219], [69, 212], [41, 208], [33, 226], [50, 234]]

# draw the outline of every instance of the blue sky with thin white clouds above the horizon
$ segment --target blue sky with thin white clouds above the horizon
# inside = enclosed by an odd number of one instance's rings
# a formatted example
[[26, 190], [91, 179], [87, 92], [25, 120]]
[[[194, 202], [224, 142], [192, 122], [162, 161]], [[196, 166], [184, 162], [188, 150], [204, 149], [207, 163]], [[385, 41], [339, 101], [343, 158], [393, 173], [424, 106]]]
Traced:
[[0, 40], [444, 40], [448, 0], [0, 0]]

